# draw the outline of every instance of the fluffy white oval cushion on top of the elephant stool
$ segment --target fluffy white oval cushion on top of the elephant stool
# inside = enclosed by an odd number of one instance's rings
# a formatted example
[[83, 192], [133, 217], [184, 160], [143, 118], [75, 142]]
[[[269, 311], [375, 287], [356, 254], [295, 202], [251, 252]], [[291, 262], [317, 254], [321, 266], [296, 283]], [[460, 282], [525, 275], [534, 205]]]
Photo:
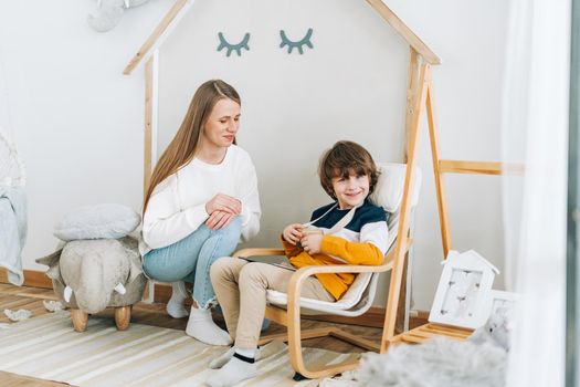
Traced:
[[85, 206], [66, 213], [54, 226], [54, 237], [76, 239], [119, 239], [134, 231], [141, 217], [129, 207], [115, 203]]

